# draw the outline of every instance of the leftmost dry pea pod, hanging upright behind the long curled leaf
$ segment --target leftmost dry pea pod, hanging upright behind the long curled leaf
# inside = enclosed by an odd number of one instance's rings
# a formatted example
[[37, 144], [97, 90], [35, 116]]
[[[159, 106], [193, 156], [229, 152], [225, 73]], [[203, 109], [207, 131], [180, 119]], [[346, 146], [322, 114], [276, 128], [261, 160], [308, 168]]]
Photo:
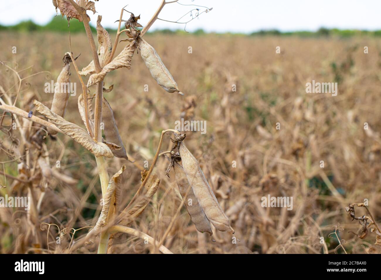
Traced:
[[[70, 53], [66, 53], [62, 61], [64, 62], [64, 67], [62, 67], [61, 73], [59, 73], [57, 78], [56, 86], [54, 87], [53, 102], [50, 110], [64, 117], [70, 94], [70, 89], [67, 86], [70, 85], [70, 62], [72, 62]], [[57, 131], [50, 128], [48, 128], [48, 132], [51, 135], [57, 134]]]

